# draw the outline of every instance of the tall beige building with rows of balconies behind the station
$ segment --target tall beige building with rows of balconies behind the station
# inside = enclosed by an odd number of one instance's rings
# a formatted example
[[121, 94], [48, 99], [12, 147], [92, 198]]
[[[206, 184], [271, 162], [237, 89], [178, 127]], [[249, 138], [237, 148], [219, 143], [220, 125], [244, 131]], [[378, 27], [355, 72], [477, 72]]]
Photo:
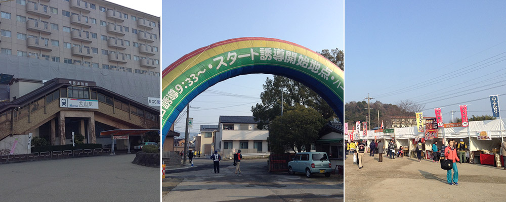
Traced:
[[94, 81], [145, 105], [159, 97], [159, 17], [100, 0], [0, 2], [1, 74]]

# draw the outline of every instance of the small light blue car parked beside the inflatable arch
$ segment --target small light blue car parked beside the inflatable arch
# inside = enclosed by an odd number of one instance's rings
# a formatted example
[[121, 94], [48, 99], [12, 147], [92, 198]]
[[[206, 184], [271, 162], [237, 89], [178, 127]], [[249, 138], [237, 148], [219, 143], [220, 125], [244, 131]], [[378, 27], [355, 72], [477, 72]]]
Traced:
[[288, 162], [289, 174], [299, 172], [311, 177], [314, 173], [322, 173], [325, 177], [330, 177], [331, 171], [332, 165], [328, 161], [327, 153], [324, 152], [297, 153], [293, 161]]

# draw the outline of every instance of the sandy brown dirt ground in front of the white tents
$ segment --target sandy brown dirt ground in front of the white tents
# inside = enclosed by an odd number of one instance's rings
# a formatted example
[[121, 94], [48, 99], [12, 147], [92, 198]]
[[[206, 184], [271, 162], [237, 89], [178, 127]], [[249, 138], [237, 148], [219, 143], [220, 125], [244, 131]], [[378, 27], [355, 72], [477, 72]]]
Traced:
[[[345, 201], [504, 201], [506, 170], [459, 164], [458, 186], [448, 185], [446, 170], [430, 160], [364, 156], [363, 168], [345, 160]], [[456, 200], [455, 200], [456, 199]]]

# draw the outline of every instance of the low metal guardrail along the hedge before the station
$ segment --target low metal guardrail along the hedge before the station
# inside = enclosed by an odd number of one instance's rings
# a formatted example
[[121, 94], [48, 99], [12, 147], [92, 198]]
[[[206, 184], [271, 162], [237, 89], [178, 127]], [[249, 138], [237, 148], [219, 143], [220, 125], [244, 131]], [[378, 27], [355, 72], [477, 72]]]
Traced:
[[0, 163], [16, 162], [16, 161], [34, 161], [41, 159], [63, 159], [83, 156], [98, 156], [111, 154], [111, 148], [95, 148], [95, 149], [74, 149], [60, 151], [43, 151], [40, 153], [30, 153], [24, 155], [0, 155]]

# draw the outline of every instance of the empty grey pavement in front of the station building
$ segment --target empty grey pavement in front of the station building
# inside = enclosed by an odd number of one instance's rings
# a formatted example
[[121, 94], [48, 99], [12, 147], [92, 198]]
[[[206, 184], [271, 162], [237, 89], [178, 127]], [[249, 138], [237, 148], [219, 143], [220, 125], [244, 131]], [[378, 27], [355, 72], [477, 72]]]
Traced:
[[0, 201], [160, 201], [160, 169], [135, 154], [0, 165]]

